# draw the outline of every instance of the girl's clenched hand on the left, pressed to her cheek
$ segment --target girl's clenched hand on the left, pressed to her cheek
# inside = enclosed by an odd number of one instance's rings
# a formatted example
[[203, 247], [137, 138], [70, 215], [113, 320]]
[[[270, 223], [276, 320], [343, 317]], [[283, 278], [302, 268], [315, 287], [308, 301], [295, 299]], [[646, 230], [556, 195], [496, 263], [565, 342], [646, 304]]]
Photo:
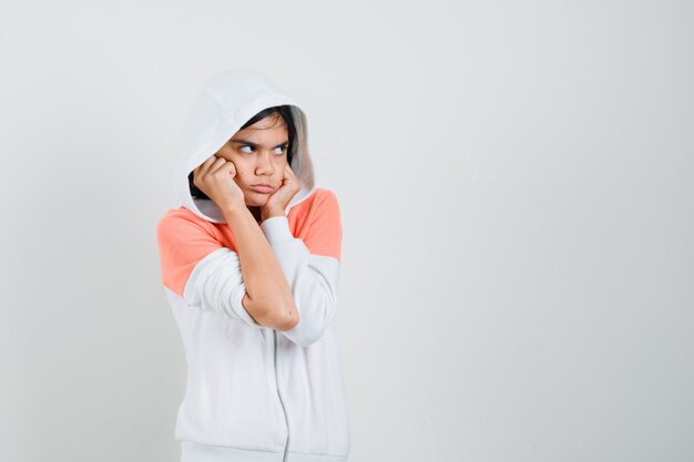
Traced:
[[236, 165], [213, 154], [193, 171], [193, 184], [222, 209], [245, 206], [244, 192], [234, 177]]

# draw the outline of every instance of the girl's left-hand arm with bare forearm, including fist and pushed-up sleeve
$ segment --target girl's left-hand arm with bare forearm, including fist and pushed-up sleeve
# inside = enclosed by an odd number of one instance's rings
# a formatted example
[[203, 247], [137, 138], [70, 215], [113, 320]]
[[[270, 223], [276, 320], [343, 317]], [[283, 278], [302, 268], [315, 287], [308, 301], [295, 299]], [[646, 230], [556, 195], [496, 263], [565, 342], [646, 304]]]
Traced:
[[298, 321], [292, 292], [235, 174], [232, 162], [213, 155], [195, 168], [194, 181], [223, 211], [238, 254], [223, 247], [214, 226], [200, 217], [188, 215], [192, 225], [163, 219], [157, 233], [164, 284], [188, 305], [251, 326], [290, 329]]

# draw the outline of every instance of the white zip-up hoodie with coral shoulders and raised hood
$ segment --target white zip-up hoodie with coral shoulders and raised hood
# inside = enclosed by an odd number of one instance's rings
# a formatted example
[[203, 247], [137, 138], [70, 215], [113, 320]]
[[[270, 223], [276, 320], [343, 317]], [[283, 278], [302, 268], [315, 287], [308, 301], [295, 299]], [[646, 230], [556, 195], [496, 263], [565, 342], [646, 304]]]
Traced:
[[[235, 240], [188, 174], [262, 110], [292, 105], [302, 189], [286, 216], [261, 224], [292, 288], [299, 322], [261, 326], [245, 310]], [[181, 331], [187, 383], [175, 437], [182, 462], [343, 462], [349, 423], [334, 324], [341, 224], [333, 192], [314, 186], [306, 115], [264, 75], [231, 69], [198, 92], [180, 138], [181, 206], [157, 224], [162, 280]]]

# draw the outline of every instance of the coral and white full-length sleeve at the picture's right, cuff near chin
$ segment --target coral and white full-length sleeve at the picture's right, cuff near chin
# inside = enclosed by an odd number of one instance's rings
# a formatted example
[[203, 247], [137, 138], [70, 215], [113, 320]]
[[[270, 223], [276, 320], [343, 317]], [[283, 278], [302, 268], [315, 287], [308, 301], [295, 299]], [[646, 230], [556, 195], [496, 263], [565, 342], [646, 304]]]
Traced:
[[327, 189], [317, 198], [305, 240], [292, 235], [286, 216], [267, 218], [261, 228], [289, 283], [299, 312], [299, 322], [282, 333], [307, 347], [320, 339], [337, 309], [341, 246], [337, 198]]

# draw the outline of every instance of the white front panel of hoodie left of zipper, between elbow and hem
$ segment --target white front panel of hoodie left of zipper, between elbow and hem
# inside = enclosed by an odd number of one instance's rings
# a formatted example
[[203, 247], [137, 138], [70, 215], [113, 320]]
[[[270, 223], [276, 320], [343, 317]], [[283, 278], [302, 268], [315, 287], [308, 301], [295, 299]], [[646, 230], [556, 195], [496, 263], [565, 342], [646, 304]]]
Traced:
[[284, 451], [286, 422], [263, 330], [214, 312], [202, 312], [192, 325], [196, 331], [186, 336], [188, 381], [178, 413], [180, 439]]

